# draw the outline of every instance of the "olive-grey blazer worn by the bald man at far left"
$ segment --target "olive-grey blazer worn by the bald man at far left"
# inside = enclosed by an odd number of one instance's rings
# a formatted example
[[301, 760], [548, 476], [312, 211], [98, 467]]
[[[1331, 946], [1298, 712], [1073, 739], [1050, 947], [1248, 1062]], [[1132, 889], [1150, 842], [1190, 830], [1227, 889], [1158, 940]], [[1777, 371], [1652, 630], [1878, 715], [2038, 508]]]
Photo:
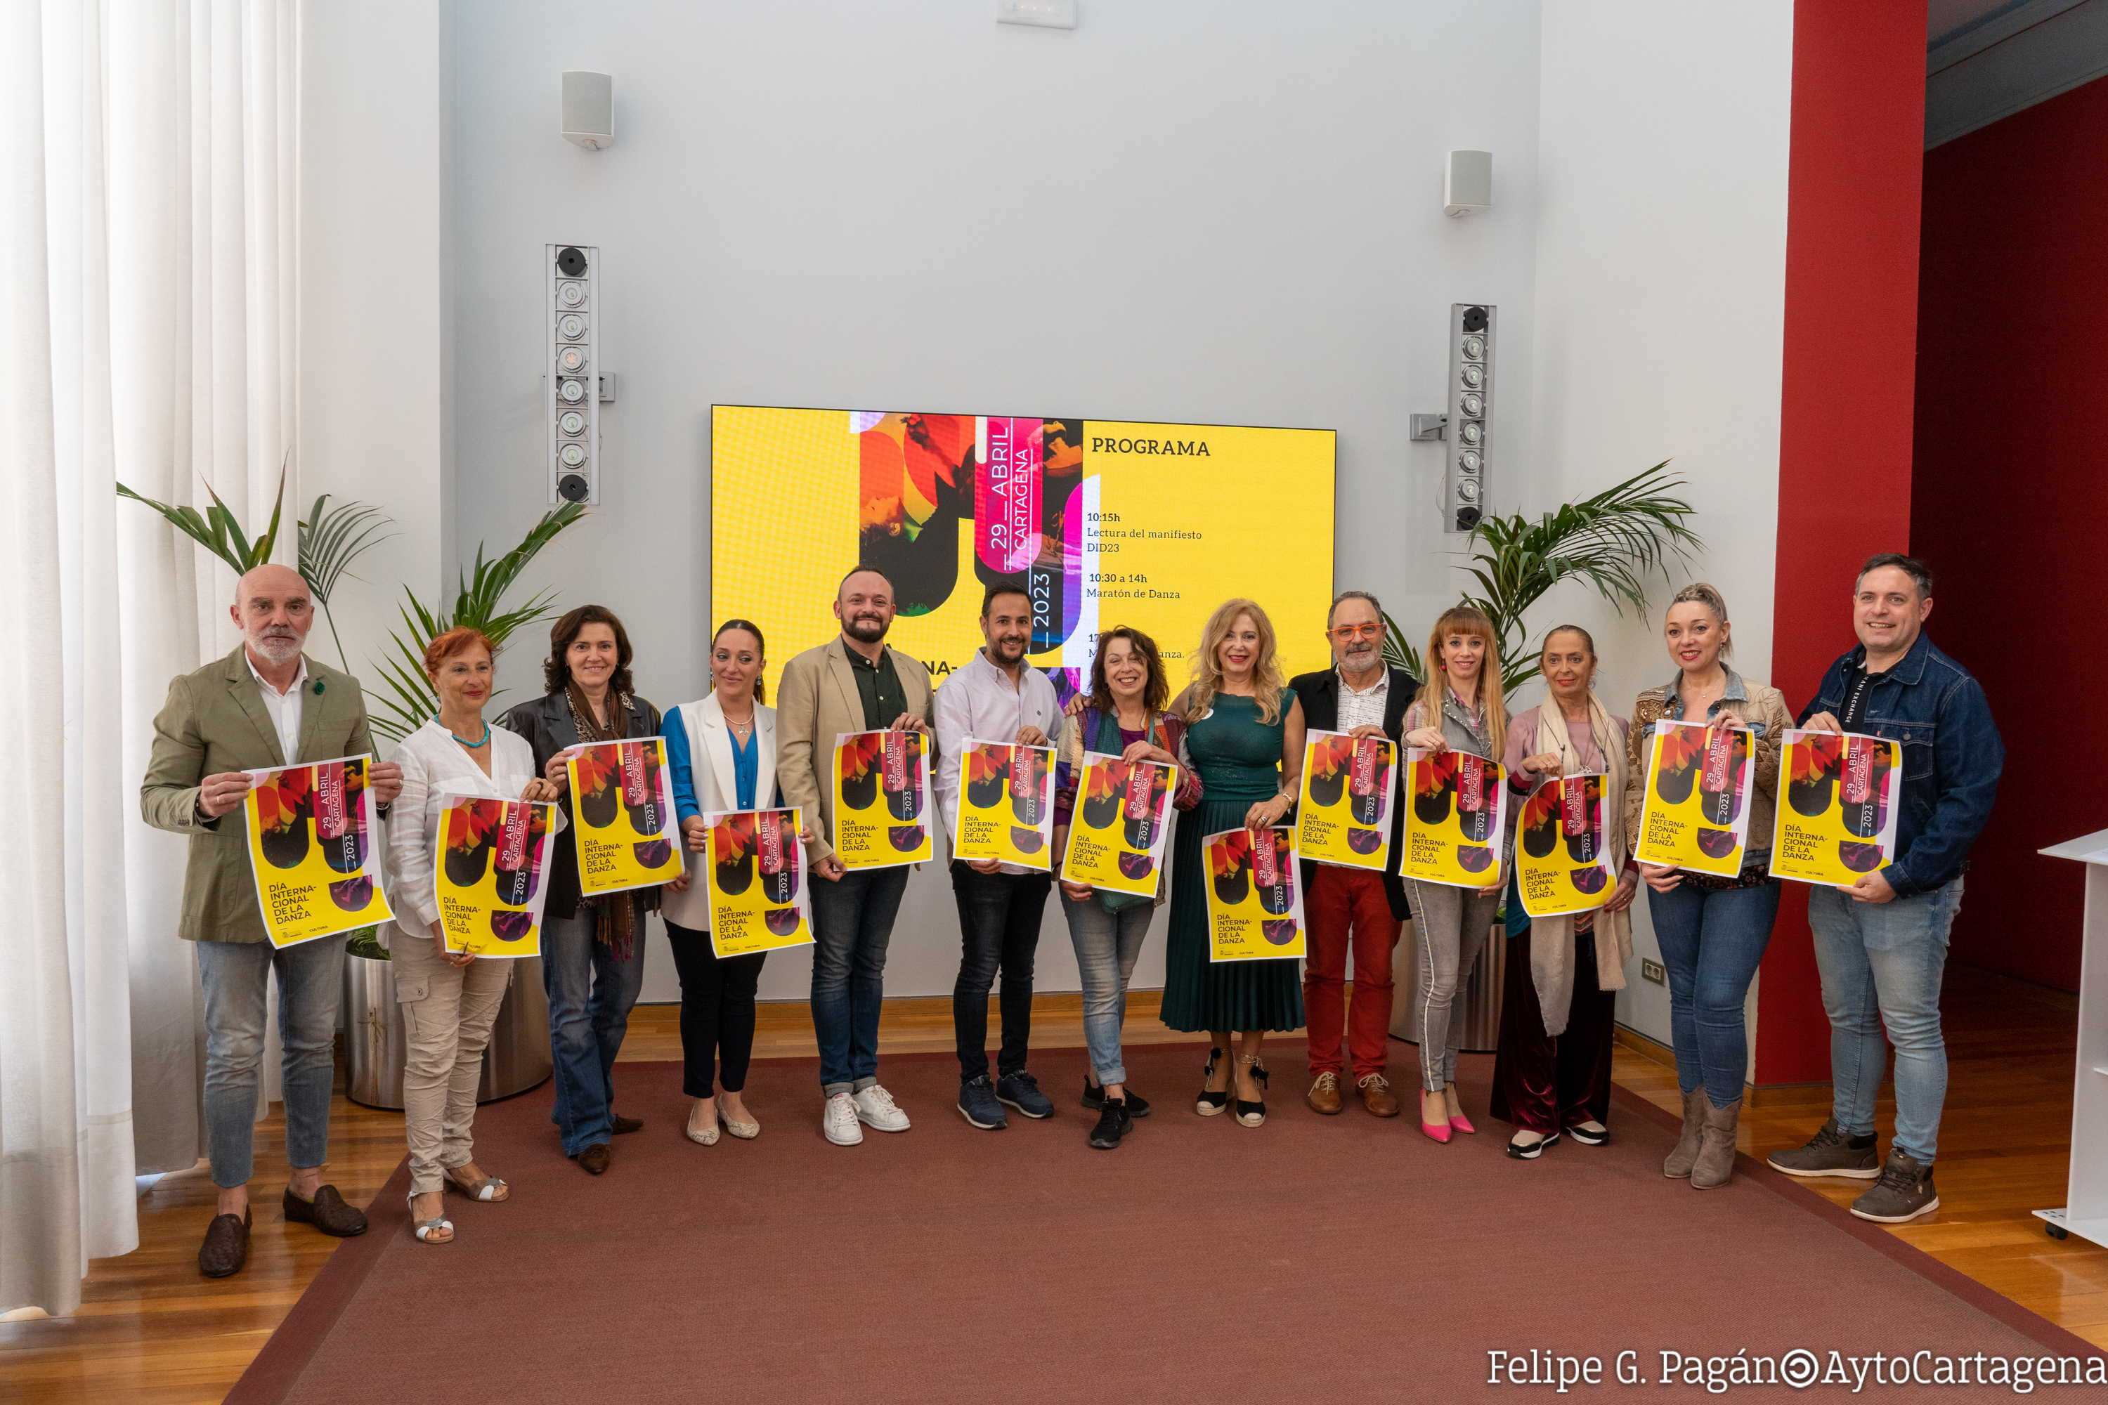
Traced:
[[[329, 760], [373, 752], [367, 701], [358, 678], [308, 659], [299, 708], [299, 758]], [[264, 710], [264, 695], [249, 674], [242, 649], [169, 682], [169, 701], [154, 718], [154, 754], [139, 784], [139, 813], [156, 830], [190, 836], [183, 870], [186, 942], [261, 942], [249, 866], [249, 817], [242, 807], [217, 819], [198, 817], [198, 790], [207, 775], [261, 771], [287, 765], [278, 729]]]

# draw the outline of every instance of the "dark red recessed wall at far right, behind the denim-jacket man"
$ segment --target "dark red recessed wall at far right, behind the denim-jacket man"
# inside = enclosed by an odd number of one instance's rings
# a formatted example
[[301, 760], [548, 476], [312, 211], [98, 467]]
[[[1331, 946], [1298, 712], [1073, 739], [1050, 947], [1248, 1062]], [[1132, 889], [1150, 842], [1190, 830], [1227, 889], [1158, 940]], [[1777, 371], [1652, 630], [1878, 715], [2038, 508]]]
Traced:
[[2104, 230], [2108, 80], [1925, 154], [1910, 537], [1937, 573], [1927, 630], [2007, 748], [1950, 954], [2064, 990], [2083, 878], [2036, 849], [2108, 828], [2108, 788], [2051, 746], [2108, 699]]

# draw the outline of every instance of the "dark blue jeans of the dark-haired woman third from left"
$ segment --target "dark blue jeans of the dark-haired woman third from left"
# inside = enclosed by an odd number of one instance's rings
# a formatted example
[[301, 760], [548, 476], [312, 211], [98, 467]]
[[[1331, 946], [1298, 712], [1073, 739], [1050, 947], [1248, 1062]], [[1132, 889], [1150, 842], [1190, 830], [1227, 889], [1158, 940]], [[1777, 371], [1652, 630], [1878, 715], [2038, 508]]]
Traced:
[[[635, 899], [618, 893], [613, 902]], [[563, 1133], [565, 1156], [601, 1146], [616, 1131], [616, 1051], [645, 984], [643, 910], [635, 912], [628, 961], [616, 961], [616, 948], [592, 939], [597, 923], [599, 914], [584, 904], [573, 916], [542, 923], [548, 1055], [557, 1066], [557, 1106], [548, 1121]]]

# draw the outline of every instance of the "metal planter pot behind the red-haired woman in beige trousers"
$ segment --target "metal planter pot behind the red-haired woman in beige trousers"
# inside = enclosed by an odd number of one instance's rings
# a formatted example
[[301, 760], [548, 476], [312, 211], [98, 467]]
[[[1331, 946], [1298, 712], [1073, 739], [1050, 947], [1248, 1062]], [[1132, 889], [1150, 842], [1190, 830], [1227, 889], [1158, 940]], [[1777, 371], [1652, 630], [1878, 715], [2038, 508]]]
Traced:
[[[483, 1051], [483, 1083], [476, 1102], [497, 1102], [540, 1087], [550, 1074], [548, 994], [542, 990], [542, 958], [510, 963], [491, 1045]], [[346, 1097], [367, 1108], [403, 1110], [403, 1064], [409, 1034], [403, 1007], [394, 998], [394, 969], [386, 961], [346, 956], [344, 961], [344, 1072]]]

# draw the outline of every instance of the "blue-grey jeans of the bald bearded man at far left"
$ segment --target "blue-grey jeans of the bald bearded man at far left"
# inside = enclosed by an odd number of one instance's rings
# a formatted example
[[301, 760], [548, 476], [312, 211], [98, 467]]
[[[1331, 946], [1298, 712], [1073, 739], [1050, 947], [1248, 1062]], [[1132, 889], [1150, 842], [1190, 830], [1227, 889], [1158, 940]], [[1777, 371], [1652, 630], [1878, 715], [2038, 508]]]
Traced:
[[255, 1173], [257, 1068], [270, 971], [278, 971], [278, 1043], [285, 1053], [285, 1159], [297, 1169], [329, 1161], [329, 1091], [337, 1083], [337, 1005], [344, 937], [299, 946], [198, 942], [204, 982], [204, 1144], [213, 1184], [247, 1186]]

